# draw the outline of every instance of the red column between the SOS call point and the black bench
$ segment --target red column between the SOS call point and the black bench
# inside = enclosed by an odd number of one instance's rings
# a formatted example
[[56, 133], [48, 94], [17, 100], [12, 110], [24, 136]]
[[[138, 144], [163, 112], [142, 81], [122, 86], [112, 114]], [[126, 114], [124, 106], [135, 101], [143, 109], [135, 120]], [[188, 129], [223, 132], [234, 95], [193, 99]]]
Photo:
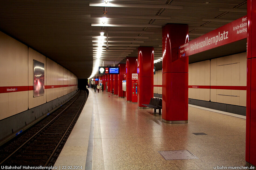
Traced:
[[149, 104], [154, 97], [154, 48], [138, 48], [138, 108], [147, 108], [142, 104]]

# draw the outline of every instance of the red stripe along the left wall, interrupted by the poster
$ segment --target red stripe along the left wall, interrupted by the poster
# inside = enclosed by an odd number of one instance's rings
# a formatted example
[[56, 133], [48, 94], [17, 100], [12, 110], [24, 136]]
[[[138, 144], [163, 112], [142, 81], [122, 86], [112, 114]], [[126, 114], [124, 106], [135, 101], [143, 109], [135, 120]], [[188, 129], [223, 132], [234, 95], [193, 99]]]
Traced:
[[[69, 84], [69, 85], [49, 85], [44, 86], [44, 89], [48, 88], [60, 88], [60, 87], [71, 87], [71, 86], [77, 86], [77, 84]], [[29, 91], [33, 90], [33, 86], [5, 86], [0, 87], [0, 93], [11, 93], [11, 92], [18, 92], [18, 91]]]

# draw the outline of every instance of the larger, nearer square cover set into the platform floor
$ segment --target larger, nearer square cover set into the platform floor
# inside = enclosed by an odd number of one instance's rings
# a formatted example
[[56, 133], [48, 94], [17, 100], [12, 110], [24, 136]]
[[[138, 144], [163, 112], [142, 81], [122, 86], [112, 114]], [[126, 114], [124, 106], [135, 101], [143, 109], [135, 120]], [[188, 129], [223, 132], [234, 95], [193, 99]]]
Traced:
[[198, 159], [195, 155], [188, 150], [170, 150], [170, 151], [158, 151], [165, 160], [177, 160], [177, 159]]

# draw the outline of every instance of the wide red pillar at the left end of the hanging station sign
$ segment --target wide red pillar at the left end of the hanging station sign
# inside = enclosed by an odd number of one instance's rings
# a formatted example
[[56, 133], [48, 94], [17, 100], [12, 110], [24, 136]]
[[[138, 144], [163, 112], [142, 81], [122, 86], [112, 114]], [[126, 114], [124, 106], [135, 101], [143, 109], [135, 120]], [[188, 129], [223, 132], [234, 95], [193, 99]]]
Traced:
[[188, 57], [179, 58], [179, 46], [188, 42], [188, 25], [162, 28], [162, 120], [188, 123]]

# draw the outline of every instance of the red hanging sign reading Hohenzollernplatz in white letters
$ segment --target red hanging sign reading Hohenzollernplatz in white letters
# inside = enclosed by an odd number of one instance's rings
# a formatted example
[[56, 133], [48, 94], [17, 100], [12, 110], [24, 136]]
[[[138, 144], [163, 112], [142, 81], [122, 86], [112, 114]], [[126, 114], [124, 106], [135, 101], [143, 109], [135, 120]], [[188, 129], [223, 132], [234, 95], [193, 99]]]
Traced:
[[247, 38], [247, 16], [179, 46], [179, 57], [191, 56], [244, 38]]

